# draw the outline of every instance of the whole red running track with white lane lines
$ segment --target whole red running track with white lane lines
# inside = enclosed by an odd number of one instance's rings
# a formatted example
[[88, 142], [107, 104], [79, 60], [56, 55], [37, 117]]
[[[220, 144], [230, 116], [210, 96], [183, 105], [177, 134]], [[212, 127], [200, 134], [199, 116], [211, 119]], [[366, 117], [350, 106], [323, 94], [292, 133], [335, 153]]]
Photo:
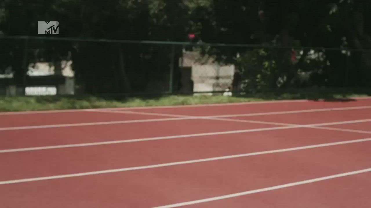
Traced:
[[2, 208], [369, 208], [371, 98], [0, 113]]

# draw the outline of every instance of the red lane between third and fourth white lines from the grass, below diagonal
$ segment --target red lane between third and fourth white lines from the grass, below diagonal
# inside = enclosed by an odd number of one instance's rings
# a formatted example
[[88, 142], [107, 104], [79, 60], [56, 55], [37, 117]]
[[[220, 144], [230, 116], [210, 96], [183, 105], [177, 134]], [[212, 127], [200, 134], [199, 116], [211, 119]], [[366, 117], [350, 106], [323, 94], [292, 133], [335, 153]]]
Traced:
[[[287, 138], [287, 135], [292, 137]], [[1, 153], [0, 181], [197, 160], [368, 138], [331, 130], [294, 128], [233, 135]]]

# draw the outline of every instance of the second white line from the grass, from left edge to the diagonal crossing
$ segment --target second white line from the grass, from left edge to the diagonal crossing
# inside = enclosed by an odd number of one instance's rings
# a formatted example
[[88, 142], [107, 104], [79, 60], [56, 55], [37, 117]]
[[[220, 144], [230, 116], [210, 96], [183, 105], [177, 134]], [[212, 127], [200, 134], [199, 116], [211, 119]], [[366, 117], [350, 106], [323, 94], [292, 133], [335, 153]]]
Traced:
[[73, 123], [73, 124], [53, 124], [53, 125], [36, 125], [36, 126], [19, 126], [19, 127], [1, 127], [0, 128], [0, 131], [22, 130], [22, 129], [35, 129], [35, 128], [76, 127], [76, 126], [89, 126], [89, 125], [127, 124], [127, 123], [154, 122], [154, 121], [175, 121], [175, 120], [188, 120], [188, 119], [197, 119], [197, 117], [155, 118], [155, 119], [125, 120], [125, 121], [103, 121], [103, 122], [91, 122], [91, 123]]

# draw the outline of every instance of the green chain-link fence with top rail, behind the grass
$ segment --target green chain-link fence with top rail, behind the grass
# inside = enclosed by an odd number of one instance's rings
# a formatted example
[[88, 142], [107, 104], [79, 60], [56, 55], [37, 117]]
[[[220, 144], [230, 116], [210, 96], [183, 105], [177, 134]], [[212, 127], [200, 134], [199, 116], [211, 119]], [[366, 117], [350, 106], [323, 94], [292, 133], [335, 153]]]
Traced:
[[371, 87], [371, 52], [345, 48], [52, 37], [0, 44], [2, 95]]

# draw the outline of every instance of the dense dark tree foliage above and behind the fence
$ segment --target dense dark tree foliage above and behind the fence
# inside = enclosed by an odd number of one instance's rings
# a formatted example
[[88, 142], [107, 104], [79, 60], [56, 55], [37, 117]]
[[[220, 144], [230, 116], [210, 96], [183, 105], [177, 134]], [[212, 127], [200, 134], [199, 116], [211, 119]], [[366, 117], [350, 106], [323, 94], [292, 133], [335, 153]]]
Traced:
[[[220, 62], [235, 64], [248, 89], [364, 87], [371, 83], [371, 23], [365, 21], [370, 10], [371, 3], [355, 0], [3, 0], [0, 31], [35, 36], [37, 21], [58, 20], [59, 37], [189, 41], [187, 34], [194, 33], [194, 42], [261, 46], [202, 48]], [[0, 44], [0, 65], [12, 65], [19, 84], [24, 84], [28, 63], [71, 58], [76, 78], [89, 93], [168, 87], [170, 45], [45, 40]], [[175, 50], [177, 60], [182, 47]]]

